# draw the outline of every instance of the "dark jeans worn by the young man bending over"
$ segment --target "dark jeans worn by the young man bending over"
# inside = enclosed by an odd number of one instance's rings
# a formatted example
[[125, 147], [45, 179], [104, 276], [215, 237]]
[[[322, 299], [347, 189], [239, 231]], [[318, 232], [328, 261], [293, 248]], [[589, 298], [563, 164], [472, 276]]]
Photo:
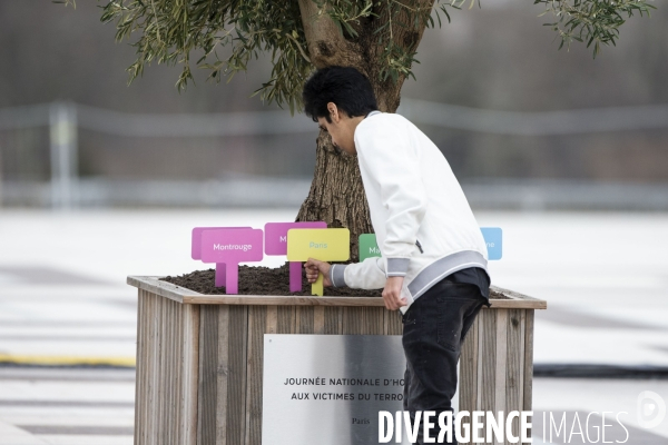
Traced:
[[[456, 389], [456, 364], [466, 332], [487, 299], [475, 285], [452, 283], [444, 278], [420, 298], [403, 315], [403, 347], [406, 355], [404, 411], [414, 419], [416, 411], [433, 411], [438, 416], [452, 412], [451, 400]], [[423, 413], [424, 415], [424, 413]], [[420, 425], [419, 444], [422, 444]], [[452, 442], [456, 444], [454, 431]]]

